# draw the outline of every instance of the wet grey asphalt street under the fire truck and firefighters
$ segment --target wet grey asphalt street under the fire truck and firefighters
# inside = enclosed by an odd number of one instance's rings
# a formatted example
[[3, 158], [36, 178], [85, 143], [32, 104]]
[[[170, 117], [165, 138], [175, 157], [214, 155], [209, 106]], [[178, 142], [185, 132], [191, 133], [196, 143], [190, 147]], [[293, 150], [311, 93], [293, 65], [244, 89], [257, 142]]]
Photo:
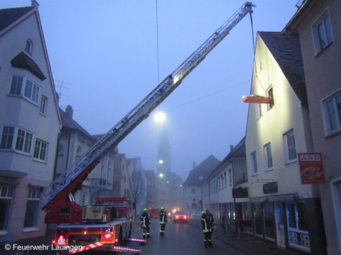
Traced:
[[[139, 245], [139, 243], [128, 243], [126, 248], [131, 249], [141, 249], [141, 254], [148, 255], [181, 255], [181, 254], [229, 254], [229, 255], [242, 255], [243, 251], [235, 249], [232, 246], [224, 244], [220, 240], [212, 237], [213, 247], [205, 247], [203, 243], [202, 230], [197, 227], [198, 224], [193, 225], [195, 221], [200, 221], [200, 219], [190, 219], [188, 223], [178, 222], [174, 223], [173, 220], [168, 220], [166, 223], [165, 236], [161, 237], [159, 234], [159, 220], [151, 219], [151, 238], [147, 239], [146, 245]], [[198, 223], [198, 222], [197, 222]], [[142, 231], [137, 223], [133, 225], [131, 238], [142, 239]], [[19, 244], [22, 245], [35, 245], [48, 247], [43, 251], [31, 251], [29, 255], [56, 255], [58, 251], [52, 250], [50, 241], [53, 239], [53, 235], [50, 237], [42, 237], [41, 239], [28, 240], [28, 242], [21, 241]], [[13, 247], [13, 244], [12, 244]], [[1, 246], [1, 254], [14, 255], [16, 251], [11, 249], [10, 251], [4, 250], [4, 246]], [[60, 251], [60, 255], [68, 254], [67, 251]], [[116, 253], [110, 251], [99, 251], [96, 249], [83, 251], [79, 254], [82, 255], [94, 255], [94, 254], [129, 254], [125, 252]], [[26, 255], [26, 254], [25, 254]]]

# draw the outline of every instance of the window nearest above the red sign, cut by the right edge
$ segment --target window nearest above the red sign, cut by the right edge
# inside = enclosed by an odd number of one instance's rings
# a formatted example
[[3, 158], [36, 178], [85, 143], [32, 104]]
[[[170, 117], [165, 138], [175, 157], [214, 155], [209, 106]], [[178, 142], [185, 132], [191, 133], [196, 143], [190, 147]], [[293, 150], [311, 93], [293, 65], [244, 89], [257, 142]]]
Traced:
[[326, 135], [341, 131], [341, 92], [323, 101]]

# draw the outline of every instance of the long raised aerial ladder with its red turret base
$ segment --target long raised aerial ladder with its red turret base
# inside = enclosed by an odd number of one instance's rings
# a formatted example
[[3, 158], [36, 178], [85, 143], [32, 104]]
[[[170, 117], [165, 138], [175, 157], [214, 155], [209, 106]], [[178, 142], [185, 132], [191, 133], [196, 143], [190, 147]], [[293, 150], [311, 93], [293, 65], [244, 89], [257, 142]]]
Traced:
[[180, 66], [161, 81], [140, 103], [107, 132], [89, 151], [70, 166], [58, 179], [43, 191], [41, 208], [45, 210], [45, 223], [81, 223], [82, 207], [75, 203], [73, 195], [82, 188], [82, 183], [101, 159], [134, 130], [142, 120], [176, 89], [183, 79], [197, 67], [202, 60], [218, 45], [239, 21], [252, 13], [254, 4], [247, 1], [239, 8], [210, 38]]

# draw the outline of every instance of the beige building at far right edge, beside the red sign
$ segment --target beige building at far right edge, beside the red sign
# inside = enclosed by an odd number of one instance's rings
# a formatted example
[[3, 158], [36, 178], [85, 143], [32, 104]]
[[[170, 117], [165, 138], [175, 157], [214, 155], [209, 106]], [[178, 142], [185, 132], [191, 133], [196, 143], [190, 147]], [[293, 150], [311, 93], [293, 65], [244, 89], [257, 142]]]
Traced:
[[300, 37], [314, 152], [322, 155], [320, 184], [328, 254], [341, 254], [341, 16], [340, 1], [304, 1], [285, 28]]

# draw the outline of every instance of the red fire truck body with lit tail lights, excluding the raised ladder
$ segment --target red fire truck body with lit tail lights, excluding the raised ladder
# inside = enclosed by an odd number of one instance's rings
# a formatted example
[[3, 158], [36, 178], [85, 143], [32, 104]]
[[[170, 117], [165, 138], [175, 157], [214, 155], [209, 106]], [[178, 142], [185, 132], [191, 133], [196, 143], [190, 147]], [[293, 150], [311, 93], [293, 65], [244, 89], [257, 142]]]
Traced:
[[82, 224], [57, 226], [53, 244], [85, 246], [100, 242], [120, 245], [131, 236], [130, 200], [128, 198], [95, 200], [95, 205], [82, 208]]

